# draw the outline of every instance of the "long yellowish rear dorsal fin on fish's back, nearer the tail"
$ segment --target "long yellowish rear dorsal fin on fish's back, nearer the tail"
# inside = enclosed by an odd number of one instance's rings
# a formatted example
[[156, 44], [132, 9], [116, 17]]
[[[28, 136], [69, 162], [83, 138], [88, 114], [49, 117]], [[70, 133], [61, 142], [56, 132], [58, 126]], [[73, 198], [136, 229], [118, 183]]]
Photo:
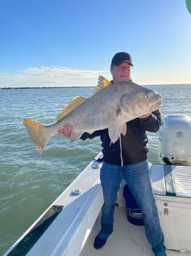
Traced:
[[87, 98], [81, 97], [81, 96], [76, 96], [75, 98], [72, 99], [70, 103], [64, 106], [62, 108], [61, 112], [56, 116], [56, 119], [54, 119], [55, 122], [58, 122], [60, 119], [62, 119], [64, 116], [67, 116], [70, 112], [72, 112], [74, 109], [78, 108], [79, 105], [84, 103]]

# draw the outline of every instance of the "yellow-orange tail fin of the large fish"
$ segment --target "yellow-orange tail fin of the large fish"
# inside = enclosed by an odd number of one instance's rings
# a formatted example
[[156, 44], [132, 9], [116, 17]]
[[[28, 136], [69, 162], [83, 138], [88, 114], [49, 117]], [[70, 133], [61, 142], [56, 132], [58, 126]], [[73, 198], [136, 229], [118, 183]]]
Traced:
[[38, 153], [41, 154], [43, 148], [45, 147], [45, 145], [47, 145], [47, 142], [50, 139], [49, 134], [45, 132], [47, 126], [42, 125], [39, 122], [35, 122], [31, 119], [22, 119], [22, 122], [24, 126], [27, 128], [30, 140], [34, 142], [38, 150]]

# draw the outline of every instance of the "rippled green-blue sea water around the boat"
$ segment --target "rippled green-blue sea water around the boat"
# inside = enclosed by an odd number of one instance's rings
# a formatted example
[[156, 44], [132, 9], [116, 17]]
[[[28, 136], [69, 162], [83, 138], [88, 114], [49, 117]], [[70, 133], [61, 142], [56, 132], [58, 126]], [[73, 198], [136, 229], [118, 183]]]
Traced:
[[[163, 96], [162, 116], [191, 115], [191, 85], [153, 85]], [[101, 150], [98, 138], [73, 144], [53, 137], [38, 155], [21, 118], [50, 124], [61, 108], [94, 88], [0, 90], [0, 255], [33, 223]], [[157, 154], [158, 133], [148, 134]]]

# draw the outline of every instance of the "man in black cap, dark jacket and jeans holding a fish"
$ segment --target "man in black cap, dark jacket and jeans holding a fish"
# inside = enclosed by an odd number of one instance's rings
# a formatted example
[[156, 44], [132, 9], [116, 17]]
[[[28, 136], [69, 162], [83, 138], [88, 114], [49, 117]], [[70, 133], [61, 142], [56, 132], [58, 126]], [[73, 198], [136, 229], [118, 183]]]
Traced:
[[[110, 67], [112, 82], [130, 82], [132, 68], [133, 62], [129, 53], [116, 53]], [[125, 136], [121, 134], [115, 143], [110, 142], [108, 129], [94, 131], [93, 134], [82, 134], [81, 140], [100, 136], [103, 147], [100, 179], [104, 205], [101, 210], [101, 231], [94, 241], [96, 249], [103, 248], [107, 238], [113, 234], [115, 202], [121, 180], [124, 179], [141, 209], [147, 240], [152, 246], [154, 255], [166, 256], [164, 234], [159, 223], [147, 162], [146, 131], [158, 131], [161, 125], [161, 114], [155, 110], [127, 122], [127, 134]], [[70, 137], [72, 131], [72, 125], [65, 125], [59, 134]]]

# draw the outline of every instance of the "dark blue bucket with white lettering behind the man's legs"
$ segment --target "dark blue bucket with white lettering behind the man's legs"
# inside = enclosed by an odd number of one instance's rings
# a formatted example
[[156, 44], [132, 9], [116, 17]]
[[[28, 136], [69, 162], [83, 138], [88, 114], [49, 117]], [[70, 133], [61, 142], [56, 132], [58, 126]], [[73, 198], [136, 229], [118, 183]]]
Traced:
[[142, 218], [142, 213], [138, 208], [138, 204], [136, 203], [128, 185], [124, 186], [124, 200], [126, 205], [127, 220], [134, 225], [143, 226], [144, 221]]

